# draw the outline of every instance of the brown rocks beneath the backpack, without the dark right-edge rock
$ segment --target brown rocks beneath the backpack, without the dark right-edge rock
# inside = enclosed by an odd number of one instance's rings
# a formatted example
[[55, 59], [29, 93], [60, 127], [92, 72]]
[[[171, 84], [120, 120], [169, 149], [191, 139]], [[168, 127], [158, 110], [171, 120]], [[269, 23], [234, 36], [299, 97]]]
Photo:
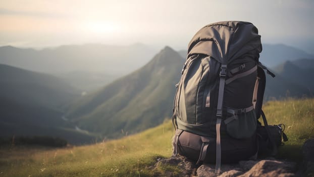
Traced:
[[[266, 159], [222, 164], [221, 173], [216, 174], [215, 164], [204, 163], [196, 166], [195, 162], [188, 160], [184, 156], [177, 155], [165, 159], [160, 158], [154, 166], [148, 167], [148, 169], [153, 170], [154, 176], [296, 176], [296, 163], [279, 161], [274, 158]], [[313, 161], [312, 158], [308, 160]]]

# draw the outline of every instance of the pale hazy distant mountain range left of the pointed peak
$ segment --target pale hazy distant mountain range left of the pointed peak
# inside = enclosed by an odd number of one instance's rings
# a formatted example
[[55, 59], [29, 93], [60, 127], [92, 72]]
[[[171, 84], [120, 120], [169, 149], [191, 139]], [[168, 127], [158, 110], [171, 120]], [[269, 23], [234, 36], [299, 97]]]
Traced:
[[[83, 85], [78, 88], [82, 91], [90, 91], [99, 88], [98, 83], [104, 85], [140, 68], [155, 53], [154, 49], [141, 43], [130, 46], [69, 45], [42, 50], [5, 46], [0, 47], [0, 64], [53, 74], [73, 86]], [[86, 75], [78, 82], [74, 72]], [[94, 79], [95, 73], [105, 77]]]

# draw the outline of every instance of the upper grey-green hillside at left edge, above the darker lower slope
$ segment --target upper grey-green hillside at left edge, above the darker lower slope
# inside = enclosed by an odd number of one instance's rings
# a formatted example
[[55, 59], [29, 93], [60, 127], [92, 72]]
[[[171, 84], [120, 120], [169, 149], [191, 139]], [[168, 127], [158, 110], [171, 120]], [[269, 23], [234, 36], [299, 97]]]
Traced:
[[0, 97], [54, 108], [80, 94], [60, 78], [3, 64], [0, 64], [0, 83]]

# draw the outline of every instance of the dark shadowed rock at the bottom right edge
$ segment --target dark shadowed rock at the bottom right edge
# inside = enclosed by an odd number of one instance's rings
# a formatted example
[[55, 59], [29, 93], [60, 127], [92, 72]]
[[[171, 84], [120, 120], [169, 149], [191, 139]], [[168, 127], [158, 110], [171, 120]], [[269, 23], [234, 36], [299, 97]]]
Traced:
[[314, 139], [308, 139], [302, 146], [303, 173], [314, 176]]

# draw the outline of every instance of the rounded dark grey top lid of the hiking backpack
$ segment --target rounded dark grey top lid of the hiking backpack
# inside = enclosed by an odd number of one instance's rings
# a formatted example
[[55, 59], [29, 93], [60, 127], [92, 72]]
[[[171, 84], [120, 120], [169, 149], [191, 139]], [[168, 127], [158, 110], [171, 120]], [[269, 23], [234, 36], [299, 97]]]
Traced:
[[189, 42], [188, 56], [205, 54], [228, 64], [246, 53], [258, 60], [261, 50], [260, 35], [252, 23], [224, 21], [201, 28]]

